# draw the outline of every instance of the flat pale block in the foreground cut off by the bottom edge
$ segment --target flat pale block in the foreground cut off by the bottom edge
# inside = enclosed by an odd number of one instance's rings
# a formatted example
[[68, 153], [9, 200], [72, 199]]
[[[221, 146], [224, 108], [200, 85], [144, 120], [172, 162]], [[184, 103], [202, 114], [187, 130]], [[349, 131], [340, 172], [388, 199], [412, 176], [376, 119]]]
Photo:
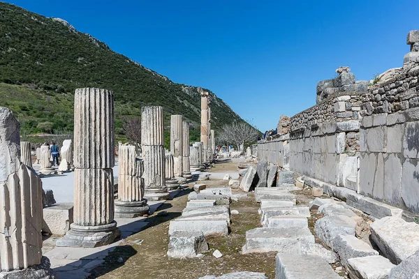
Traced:
[[332, 267], [321, 257], [277, 254], [276, 279], [339, 279]]

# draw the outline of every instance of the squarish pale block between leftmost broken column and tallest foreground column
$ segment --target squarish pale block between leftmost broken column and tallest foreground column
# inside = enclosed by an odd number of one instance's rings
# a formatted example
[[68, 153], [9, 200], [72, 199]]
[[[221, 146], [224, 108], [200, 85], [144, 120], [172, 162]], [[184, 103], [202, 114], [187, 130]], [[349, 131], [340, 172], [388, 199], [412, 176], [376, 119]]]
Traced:
[[64, 235], [73, 223], [73, 203], [56, 204], [43, 209], [43, 228], [45, 234]]

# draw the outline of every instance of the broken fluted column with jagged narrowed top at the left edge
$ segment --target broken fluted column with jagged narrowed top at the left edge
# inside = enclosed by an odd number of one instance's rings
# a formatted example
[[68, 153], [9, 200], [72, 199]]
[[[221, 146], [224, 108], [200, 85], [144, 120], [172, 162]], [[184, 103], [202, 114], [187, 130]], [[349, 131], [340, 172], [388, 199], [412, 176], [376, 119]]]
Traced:
[[20, 125], [0, 107], [0, 278], [54, 278], [42, 257], [42, 181], [20, 161]]

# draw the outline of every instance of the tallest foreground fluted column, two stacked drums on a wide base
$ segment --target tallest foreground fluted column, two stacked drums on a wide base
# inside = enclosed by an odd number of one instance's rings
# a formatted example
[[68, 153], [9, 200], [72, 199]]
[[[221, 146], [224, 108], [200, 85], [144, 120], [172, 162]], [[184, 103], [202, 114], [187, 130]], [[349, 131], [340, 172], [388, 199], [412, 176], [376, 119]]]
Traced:
[[97, 88], [76, 89], [74, 99], [74, 223], [57, 246], [91, 248], [121, 234], [114, 220], [114, 100]]

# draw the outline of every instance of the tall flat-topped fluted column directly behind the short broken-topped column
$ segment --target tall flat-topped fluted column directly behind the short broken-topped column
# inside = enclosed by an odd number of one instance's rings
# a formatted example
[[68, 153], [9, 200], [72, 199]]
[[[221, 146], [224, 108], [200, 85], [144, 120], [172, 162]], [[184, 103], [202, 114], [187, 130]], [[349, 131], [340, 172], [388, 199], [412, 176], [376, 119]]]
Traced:
[[145, 198], [168, 199], [163, 137], [163, 107], [141, 108], [142, 160], [144, 160]]

